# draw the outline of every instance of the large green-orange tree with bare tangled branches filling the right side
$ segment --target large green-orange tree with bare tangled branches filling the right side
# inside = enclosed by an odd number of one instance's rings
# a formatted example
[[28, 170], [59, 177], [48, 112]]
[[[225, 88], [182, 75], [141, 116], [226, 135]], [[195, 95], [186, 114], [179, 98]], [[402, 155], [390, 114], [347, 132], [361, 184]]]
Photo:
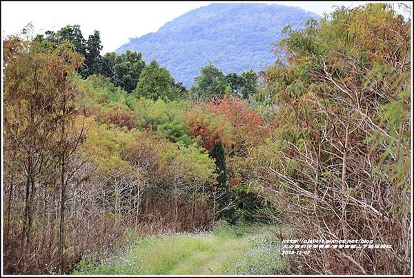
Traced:
[[280, 109], [252, 161], [297, 237], [398, 246], [321, 250], [298, 258], [306, 272], [409, 272], [410, 25], [389, 4], [337, 8], [304, 30], [286, 28], [284, 61], [264, 74]]

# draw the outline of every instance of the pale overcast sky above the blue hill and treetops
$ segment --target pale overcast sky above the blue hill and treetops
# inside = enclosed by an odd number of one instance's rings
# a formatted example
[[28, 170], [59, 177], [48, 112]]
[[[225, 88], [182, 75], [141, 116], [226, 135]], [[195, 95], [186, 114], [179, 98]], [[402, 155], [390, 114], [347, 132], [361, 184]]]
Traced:
[[[225, 1], [217, 2], [225, 3]], [[248, 2], [244, 1], [244, 3]], [[115, 51], [119, 46], [127, 43], [129, 38], [157, 32], [164, 23], [195, 8], [208, 6], [210, 3], [213, 1], [1, 1], [1, 35], [3, 37], [15, 34], [28, 23], [32, 23], [37, 33], [46, 30], [56, 31], [68, 24], [79, 24], [85, 38], [95, 29], [101, 32], [103, 54]], [[368, 1], [263, 1], [262, 3], [297, 6], [322, 15], [323, 12], [333, 10], [333, 6], [357, 6]]]

